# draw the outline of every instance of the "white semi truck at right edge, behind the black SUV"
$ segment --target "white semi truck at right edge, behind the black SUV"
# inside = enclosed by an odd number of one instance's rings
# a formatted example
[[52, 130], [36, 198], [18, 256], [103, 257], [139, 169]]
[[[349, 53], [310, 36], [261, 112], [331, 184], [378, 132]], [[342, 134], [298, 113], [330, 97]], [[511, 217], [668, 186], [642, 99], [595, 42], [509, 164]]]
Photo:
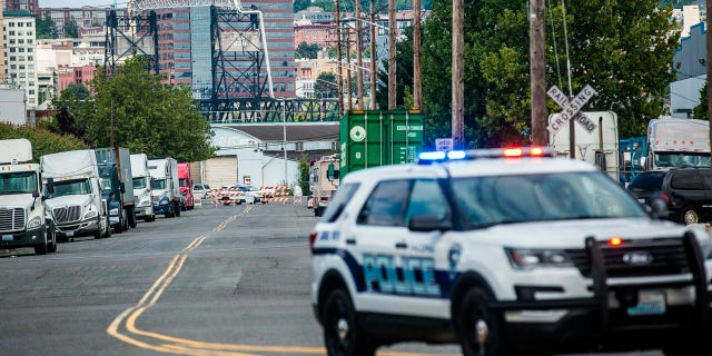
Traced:
[[710, 121], [671, 117], [650, 120], [644, 167], [710, 167]]

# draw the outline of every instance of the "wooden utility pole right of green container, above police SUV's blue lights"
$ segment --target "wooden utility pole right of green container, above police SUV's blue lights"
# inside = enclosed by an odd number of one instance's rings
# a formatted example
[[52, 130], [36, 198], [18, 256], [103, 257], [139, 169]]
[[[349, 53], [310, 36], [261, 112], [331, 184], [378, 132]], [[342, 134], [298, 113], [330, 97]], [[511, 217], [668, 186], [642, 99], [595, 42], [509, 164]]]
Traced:
[[453, 148], [465, 148], [465, 77], [464, 72], [464, 51], [465, 51], [465, 38], [463, 0], [453, 0], [453, 118], [452, 118], [452, 135], [453, 135]]

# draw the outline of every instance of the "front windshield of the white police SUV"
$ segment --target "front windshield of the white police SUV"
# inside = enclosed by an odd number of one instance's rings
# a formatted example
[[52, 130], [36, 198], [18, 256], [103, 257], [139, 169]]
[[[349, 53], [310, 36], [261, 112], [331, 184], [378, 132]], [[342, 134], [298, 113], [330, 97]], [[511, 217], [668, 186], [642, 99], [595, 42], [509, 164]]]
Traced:
[[498, 224], [646, 216], [603, 174], [556, 172], [456, 178], [455, 200], [473, 228]]

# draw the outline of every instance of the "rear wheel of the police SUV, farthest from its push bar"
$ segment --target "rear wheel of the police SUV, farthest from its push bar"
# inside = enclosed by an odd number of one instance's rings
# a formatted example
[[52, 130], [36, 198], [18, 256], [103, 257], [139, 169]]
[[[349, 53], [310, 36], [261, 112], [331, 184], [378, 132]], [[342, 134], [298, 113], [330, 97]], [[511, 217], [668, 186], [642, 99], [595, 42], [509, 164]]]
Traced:
[[324, 344], [329, 356], [373, 356], [376, 348], [368, 344], [356, 326], [356, 313], [348, 294], [333, 290], [324, 305]]

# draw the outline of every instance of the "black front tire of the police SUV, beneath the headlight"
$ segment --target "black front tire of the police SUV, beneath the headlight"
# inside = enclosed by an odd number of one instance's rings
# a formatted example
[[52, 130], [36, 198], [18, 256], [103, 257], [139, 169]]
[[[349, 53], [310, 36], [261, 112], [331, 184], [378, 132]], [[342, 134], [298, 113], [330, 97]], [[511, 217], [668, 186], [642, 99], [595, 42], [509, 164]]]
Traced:
[[[502, 315], [486, 307], [493, 299], [487, 290], [479, 287], [471, 288], [465, 294], [459, 307], [459, 313], [457, 313], [455, 317], [455, 328], [463, 355], [510, 355], [502, 338]], [[487, 328], [487, 338], [484, 345], [481, 345], [475, 337], [478, 322], [484, 322]]]

